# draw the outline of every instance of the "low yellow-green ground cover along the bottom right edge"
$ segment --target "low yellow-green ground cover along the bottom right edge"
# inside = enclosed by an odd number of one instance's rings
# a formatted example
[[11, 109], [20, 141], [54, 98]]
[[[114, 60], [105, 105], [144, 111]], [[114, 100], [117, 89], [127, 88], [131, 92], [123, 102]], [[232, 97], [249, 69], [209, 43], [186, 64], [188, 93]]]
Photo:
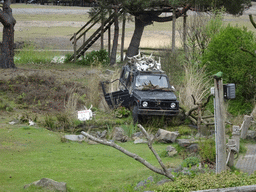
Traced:
[[197, 191], [206, 189], [228, 188], [244, 185], [254, 185], [256, 174], [233, 172], [223, 172], [221, 174], [205, 173], [190, 176], [180, 176], [176, 181], [169, 182], [156, 191]]

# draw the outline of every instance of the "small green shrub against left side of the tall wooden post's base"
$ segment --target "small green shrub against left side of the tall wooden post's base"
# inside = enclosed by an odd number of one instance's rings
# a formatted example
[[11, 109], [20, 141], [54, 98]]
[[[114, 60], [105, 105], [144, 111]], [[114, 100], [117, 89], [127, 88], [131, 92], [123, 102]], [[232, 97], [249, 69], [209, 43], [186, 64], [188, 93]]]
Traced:
[[198, 144], [201, 161], [204, 163], [214, 163], [216, 161], [215, 140], [213, 138], [200, 140]]

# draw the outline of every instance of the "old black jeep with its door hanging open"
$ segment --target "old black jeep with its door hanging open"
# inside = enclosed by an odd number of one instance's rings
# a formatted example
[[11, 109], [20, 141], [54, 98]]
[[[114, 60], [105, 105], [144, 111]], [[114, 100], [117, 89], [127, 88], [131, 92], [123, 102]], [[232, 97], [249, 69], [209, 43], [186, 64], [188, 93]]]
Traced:
[[141, 116], [177, 116], [179, 101], [174, 94], [167, 75], [162, 70], [142, 70], [126, 64], [122, 68], [119, 91], [106, 93], [101, 82], [104, 97], [111, 108], [123, 106], [131, 109], [133, 121], [137, 123]]

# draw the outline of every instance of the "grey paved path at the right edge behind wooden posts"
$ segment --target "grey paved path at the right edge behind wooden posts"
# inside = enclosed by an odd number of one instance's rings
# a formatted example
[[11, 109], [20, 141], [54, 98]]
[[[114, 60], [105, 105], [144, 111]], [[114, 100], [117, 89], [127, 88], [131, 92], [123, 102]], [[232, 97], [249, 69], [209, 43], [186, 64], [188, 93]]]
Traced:
[[238, 158], [235, 167], [249, 174], [256, 171], [256, 144], [247, 145], [246, 154]]

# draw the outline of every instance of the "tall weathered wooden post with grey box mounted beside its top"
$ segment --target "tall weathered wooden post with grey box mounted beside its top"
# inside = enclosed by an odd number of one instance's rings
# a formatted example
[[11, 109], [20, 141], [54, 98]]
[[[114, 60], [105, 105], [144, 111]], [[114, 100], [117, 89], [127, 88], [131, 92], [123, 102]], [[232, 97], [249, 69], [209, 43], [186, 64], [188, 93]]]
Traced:
[[222, 72], [214, 75], [215, 123], [216, 123], [216, 173], [226, 170], [225, 114]]

